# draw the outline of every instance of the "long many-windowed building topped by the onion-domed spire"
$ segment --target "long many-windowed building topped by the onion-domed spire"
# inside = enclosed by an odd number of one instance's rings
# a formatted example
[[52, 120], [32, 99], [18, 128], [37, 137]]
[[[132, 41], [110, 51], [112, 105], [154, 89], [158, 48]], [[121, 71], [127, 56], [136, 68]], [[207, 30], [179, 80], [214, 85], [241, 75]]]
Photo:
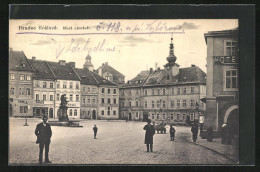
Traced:
[[[141, 71], [120, 87], [120, 114], [129, 120], [186, 124], [205, 110], [206, 74], [192, 65], [179, 68], [173, 43], [164, 69]], [[197, 105], [197, 106], [196, 106]]]

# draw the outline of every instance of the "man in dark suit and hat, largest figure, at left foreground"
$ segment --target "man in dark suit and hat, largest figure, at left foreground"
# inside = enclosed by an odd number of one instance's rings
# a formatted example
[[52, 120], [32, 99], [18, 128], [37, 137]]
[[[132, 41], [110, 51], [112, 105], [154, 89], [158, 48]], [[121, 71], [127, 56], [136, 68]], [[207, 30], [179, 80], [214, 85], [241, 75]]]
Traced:
[[45, 148], [45, 163], [51, 163], [49, 160], [49, 146], [51, 143], [51, 126], [47, 123], [48, 117], [42, 117], [43, 122], [37, 124], [35, 129], [35, 135], [37, 136], [36, 143], [39, 144], [39, 163], [42, 164], [43, 148]]

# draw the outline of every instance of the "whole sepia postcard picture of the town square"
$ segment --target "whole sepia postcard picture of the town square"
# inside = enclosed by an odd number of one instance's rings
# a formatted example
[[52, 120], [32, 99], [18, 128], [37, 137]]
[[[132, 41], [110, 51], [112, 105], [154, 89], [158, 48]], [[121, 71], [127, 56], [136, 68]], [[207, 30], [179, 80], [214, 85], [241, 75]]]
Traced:
[[10, 19], [8, 163], [239, 164], [239, 20]]

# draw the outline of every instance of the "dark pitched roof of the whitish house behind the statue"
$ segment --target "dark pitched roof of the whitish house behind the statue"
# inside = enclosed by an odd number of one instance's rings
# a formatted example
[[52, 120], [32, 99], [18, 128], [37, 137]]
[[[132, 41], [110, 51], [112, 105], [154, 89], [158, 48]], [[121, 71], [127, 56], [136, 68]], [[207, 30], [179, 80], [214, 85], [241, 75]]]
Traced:
[[79, 81], [79, 77], [70, 64], [60, 65], [58, 62], [47, 62], [57, 79]]

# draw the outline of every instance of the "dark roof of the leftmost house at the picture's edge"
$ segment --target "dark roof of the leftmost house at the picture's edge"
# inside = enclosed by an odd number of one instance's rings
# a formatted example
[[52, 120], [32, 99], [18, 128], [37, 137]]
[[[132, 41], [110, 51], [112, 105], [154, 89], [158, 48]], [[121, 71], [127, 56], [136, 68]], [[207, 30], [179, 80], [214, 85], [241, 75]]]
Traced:
[[33, 72], [24, 52], [13, 50], [9, 52], [9, 70]]

